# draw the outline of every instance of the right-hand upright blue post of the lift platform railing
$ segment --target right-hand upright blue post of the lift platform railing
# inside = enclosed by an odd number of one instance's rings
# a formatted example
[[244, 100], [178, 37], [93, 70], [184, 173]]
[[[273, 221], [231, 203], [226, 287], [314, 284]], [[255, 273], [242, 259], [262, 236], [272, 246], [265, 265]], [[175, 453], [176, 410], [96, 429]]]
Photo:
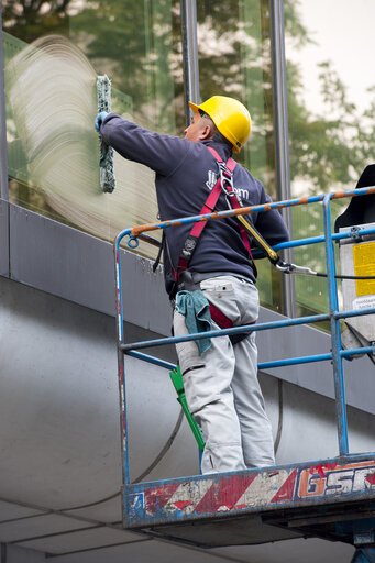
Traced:
[[331, 231], [331, 210], [330, 201], [333, 194], [328, 194], [323, 199], [323, 213], [324, 213], [324, 234], [326, 234], [326, 263], [327, 263], [327, 278], [328, 278], [328, 297], [330, 307], [330, 322], [331, 322], [331, 345], [332, 345], [332, 365], [333, 365], [333, 382], [334, 382], [334, 396], [335, 396], [335, 412], [338, 424], [339, 438], [339, 453], [346, 455], [349, 453], [348, 446], [348, 422], [346, 422], [346, 406], [345, 406], [345, 389], [344, 377], [342, 369], [341, 351], [341, 334], [340, 334], [340, 319], [335, 318], [339, 312], [338, 288], [335, 282], [335, 262], [334, 262], [334, 247]]

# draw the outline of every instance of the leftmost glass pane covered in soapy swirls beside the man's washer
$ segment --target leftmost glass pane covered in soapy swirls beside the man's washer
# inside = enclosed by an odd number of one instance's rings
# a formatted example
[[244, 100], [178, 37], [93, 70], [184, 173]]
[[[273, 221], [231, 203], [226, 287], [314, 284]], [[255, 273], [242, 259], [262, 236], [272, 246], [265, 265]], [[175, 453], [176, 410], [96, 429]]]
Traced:
[[10, 200], [107, 240], [155, 222], [147, 168], [115, 156], [117, 188], [100, 191], [96, 78], [111, 79], [112, 111], [180, 134], [179, 0], [4, 0], [2, 19]]

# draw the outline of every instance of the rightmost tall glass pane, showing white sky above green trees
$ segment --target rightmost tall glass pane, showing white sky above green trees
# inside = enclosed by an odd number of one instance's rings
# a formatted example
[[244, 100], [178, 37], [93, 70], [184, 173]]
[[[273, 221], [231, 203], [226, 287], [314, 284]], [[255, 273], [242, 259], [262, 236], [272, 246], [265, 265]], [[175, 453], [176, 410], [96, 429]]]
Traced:
[[[290, 175], [294, 197], [349, 190], [375, 155], [370, 0], [285, 0]], [[332, 202], [332, 223], [349, 199]], [[322, 234], [321, 206], [293, 210], [294, 238]], [[322, 245], [295, 262], [326, 272]], [[298, 313], [327, 311], [324, 279], [297, 277]]]

